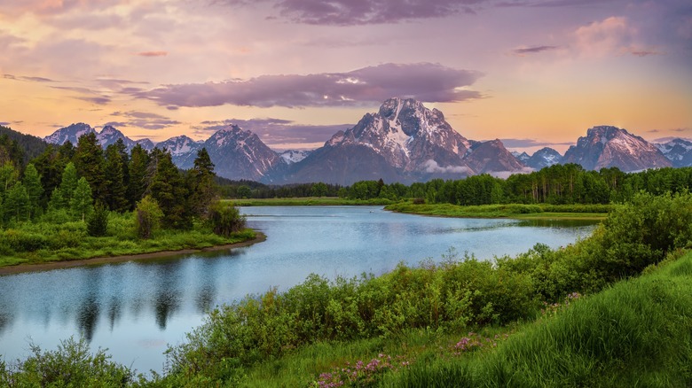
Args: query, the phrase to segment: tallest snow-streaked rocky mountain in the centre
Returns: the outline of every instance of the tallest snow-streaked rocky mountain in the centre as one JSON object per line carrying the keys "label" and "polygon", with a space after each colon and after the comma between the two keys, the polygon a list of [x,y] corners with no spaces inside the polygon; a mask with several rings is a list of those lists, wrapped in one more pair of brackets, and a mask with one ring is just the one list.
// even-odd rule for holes
{"label": "tallest snow-streaked rocky mountain in the centre", "polygon": [[442,112],[413,99],[390,98],[378,113],[367,113],[355,127],[337,132],[292,165],[285,180],[419,182],[523,168],[499,140],[472,145]]}

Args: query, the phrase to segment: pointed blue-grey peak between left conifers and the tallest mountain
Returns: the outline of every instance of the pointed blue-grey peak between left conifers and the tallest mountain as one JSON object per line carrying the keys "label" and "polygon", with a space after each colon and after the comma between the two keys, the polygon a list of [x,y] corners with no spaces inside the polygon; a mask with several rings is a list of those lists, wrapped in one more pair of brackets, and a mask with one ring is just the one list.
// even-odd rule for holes
{"label": "pointed blue-grey peak between left conifers and the tallest mountain", "polygon": [[228,179],[274,182],[288,167],[259,136],[236,125],[219,130],[202,146],[216,165],[216,174]]}

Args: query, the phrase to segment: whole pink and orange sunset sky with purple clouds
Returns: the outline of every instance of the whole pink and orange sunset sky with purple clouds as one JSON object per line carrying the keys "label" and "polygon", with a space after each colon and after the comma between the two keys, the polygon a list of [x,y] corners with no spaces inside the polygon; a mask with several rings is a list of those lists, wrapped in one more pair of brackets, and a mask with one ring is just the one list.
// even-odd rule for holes
{"label": "whole pink and orange sunset sky with purple clouds", "polygon": [[413,97],[515,151],[692,138],[689,0],[0,0],[0,53],[0,124],[42,137],[313,149]]}

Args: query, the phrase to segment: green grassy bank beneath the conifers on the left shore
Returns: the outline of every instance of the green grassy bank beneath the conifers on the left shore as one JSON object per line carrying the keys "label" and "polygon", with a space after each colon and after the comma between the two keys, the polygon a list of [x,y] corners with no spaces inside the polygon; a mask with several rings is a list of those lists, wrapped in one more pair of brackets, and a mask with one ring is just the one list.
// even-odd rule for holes
{"label": "green grassy bank beneath the conifers on the left shore", "polygon": [[225,238],[201,224],[195,224],[191,230],[163,229],[151,239],[135,235],[131,213],[110,213],[105,237],[89,237],[86,224],[80,221],[20,223],[0,230],[0,267],[202,249],[236,244],[256,236],[253,230],[246,229]]}

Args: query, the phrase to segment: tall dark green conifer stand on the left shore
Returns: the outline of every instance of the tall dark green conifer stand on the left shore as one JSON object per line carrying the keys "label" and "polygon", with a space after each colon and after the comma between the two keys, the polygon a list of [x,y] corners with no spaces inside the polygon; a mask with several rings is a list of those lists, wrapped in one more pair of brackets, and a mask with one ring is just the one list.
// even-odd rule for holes
{"label": "tall dark green conifer stand on the left shore", "polygon": [[140,237],[147,237],[146,228],[159,223],[191,229],[193,220],[208,219],[212,210],[224,212],[215,205],[216,174],[206,149],[198,151],[193,168],[181,171],[169,151],[137,145],[128,152],[122,139],[103,149],[88,134],[76,146],[48,144],[24,166],[20,145],[0,141],[0,227],[39,219],[98,226],[109,211],[133,211]]}

